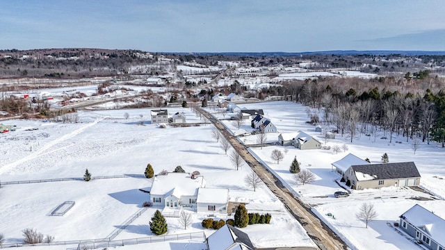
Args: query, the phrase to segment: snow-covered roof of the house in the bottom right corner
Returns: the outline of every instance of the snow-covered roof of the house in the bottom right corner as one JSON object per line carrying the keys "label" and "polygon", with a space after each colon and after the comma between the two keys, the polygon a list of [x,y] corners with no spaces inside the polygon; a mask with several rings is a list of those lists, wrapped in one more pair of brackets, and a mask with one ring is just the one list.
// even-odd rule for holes
{"label": "snow-covered roof of the house in the bottom right corner", "polygon": [[416,204],[403,213],[401,218],[430,235],[435,242],[445,246],[445,220],[441,217]]}

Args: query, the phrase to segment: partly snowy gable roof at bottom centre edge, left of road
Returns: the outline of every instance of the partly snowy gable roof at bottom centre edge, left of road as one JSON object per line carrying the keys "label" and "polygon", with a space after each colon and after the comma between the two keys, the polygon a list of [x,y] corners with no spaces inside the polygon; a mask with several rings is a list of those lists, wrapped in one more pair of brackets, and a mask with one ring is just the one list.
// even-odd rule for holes
{"label": "partly snowy gable roof at bottom centre edge, left of road", "polygon": [[207,238],[209,250],[253,250],[249,235],[243,231],[225,224]]}

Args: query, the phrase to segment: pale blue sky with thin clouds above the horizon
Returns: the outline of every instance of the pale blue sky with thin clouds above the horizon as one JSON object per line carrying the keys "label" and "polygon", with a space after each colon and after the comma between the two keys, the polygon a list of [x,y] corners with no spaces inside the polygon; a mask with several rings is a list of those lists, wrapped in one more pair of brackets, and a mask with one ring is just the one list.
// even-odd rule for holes
{"label": "pale blue sky with thin clouds above the horizon", "polygon": [[445,51],[443,0],[0,0],[0,49]]}

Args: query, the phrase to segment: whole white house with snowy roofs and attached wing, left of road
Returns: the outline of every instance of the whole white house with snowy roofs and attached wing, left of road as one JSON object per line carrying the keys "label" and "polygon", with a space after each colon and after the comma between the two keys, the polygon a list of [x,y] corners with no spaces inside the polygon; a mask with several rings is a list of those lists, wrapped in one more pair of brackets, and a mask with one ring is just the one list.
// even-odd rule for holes
{"label": "whole white house with snowy roofs and attached wing, left of road", "polygon": [[189,173],[158,174],[153,177],[150,201],[170,210],[189,207],[197,213],[227,213],[229,190],[205,188],[204,176]]}

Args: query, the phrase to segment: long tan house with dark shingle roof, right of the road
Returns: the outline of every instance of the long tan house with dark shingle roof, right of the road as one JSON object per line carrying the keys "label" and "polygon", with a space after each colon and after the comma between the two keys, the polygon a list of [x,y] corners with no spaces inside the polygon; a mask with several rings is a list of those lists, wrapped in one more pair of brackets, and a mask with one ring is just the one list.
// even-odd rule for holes
{"label": "long tan house with dark shingle roof, right of the road", "polygon": [[351,165],[343,174],[351,187],[410,187],[420,184],[420,174],[413,162]]}

